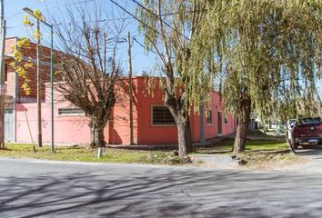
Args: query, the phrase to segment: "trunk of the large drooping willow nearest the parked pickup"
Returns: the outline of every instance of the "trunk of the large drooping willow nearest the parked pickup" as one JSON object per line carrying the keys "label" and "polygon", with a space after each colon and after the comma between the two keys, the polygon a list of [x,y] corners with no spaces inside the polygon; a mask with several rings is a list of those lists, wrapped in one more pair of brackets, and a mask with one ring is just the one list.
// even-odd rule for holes
{"label": "trunk of the large drooping willow nearest the parked pickup", "polygon": [[234,154],[243,153],[246,149],[247,131],[250,121],[251,99],[246,93],[239,99],[236,117],[238,119],[236,138],[234,143]]}

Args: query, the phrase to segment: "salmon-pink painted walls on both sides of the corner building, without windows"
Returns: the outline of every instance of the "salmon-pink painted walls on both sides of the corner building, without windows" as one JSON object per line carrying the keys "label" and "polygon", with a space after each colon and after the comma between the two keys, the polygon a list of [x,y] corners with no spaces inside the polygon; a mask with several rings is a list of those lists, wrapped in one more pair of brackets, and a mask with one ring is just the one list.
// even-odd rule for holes
{"label": "salmon-pink painted walls on both sides of the corner building, without windows", "polygon": [[[154,94],[148,94],[146,78],[136,77],[134,85],[134,141],[136,144],[176,144],[176,126],[153,126],[151,109],[152,105],[163,105],[163,94],[156,86]],[[113,120],[106,125],[105,137],[108,144],[129,144],[129,97],[128,84],[116,90],[118,101],[113,109]],[[61,99],[61,95],[55,93],[55,99]],[[211,107],[213,109],[213,124],[207,125],[205,118],[205,136],[213,138],[217,136],[217,111],[223,111],[223,103],[219,103],[219,95],[212,94]],[[58,115],[58,108],[70,107],[68,102],[55,102],[55,143],[59,144],[88,144],[90,139],[88,118],[86,116],[62,116]],[[26,124],[25,112],[29,120],[33,139],[36,142],[36,104],[16,105],[16,142],[31,142]],[[42,104],[43,112],[43,141],[51,141],[51,110],[50,110],[50,86],[46,84],[45,103]],[[191,131],[193,141],[199,140],[199,115],[191,115]],[[235,132],[235,123],[232,114],[228,115],[228,124],[224,124],[223,134]]]}

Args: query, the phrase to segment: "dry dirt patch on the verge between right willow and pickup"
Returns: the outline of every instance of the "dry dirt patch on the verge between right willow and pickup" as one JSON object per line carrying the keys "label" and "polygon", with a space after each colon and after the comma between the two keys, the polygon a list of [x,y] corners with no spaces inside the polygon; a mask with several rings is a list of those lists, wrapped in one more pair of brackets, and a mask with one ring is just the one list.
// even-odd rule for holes
{"label": "dry dirt patch on the verge between right willow and pickup", "polygon": [[243,164],[238,167],[257,170],[275,170],[291,164],[307,163],[307,159],[295,154],[238,154]]}

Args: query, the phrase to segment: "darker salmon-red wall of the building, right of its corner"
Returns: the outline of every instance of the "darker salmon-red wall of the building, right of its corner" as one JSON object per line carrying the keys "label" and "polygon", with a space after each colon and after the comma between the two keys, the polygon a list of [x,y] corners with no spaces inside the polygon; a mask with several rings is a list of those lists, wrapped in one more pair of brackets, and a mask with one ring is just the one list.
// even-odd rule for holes
{"label": "darker salmon-red wall of the building, right of its corner", "polygon": [[[176,126],[153,126],[151,110],[152,105],[164,105],[163,94],[156,84],[154,94],[148,94],[146,89],[146,78],[136,77],[138,83],[137,97],[137,139],[138,144],[177,144]],[[158,83],[158,82],[156,82]],[[228,114],[228,124],[224,121],[224,103],[219,101],[219,94],[212,92],[211,108],[213,108],[213,124],[206,124],[205,117],[205,138],[214,138],[218,136],[218,111],[222,114],[223,135],[235,133],[235,121],[232,114]],[[199,115],[192,114],[190,116],[190,128],[192,141],[199,140]]]}

